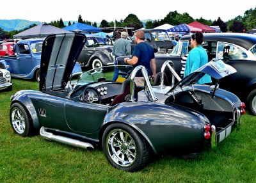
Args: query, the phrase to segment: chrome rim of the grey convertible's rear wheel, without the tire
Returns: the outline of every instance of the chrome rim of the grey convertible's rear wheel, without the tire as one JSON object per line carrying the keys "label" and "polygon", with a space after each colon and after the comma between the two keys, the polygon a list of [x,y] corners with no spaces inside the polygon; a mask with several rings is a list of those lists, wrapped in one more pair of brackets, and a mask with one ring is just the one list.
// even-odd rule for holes
{"label": "chrome rim of the grey convertible's rear wheel, without the tire", "polygon": [[136,145],[134,139],[121,129],[114,129],[106,141],[111,159],[119,166],[131,166],[136,160]]}

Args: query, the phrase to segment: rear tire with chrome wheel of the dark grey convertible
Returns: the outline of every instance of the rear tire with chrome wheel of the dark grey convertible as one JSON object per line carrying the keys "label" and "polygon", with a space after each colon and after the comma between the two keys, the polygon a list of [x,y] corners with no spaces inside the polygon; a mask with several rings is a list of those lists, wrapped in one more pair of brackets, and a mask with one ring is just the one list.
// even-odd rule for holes
{"label": "rear tire with chrome wheel of the dark grey convertible", "polygon": [[113,123],[106,128],[102,148],[109,163],[124,171],[144,168],[150,156],[145,139],[124,123]]}

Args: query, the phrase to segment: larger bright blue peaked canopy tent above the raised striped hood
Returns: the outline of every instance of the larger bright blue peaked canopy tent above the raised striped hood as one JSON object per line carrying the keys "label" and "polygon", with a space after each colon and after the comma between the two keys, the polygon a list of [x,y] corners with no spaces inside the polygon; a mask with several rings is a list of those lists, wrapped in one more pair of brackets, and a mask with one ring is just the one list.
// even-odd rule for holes
{"label": "larger bright blue peaked canopy tent above the raised striped hood", "polygon": [[95,28],[93,26],[82,24],[79,22],[77,22],[76,24],[67,26],[63,29],[67,31],[72,31],[72,32],[86,32],[86,33],[99,33],[101,31],[100,28]]}

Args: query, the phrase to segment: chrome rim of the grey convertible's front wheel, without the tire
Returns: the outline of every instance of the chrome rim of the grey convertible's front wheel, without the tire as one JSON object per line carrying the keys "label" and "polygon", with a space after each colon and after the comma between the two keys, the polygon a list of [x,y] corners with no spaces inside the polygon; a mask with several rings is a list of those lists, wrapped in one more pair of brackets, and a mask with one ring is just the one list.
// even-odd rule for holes
{"label": "chrome rim of the grey convertible's front wheel, without the tire", "polygon": [[22,134],[25,131],[25,117],[22,111],[18,107],[14,107],[12,110],[12,126],[13,129],[18,133]]}

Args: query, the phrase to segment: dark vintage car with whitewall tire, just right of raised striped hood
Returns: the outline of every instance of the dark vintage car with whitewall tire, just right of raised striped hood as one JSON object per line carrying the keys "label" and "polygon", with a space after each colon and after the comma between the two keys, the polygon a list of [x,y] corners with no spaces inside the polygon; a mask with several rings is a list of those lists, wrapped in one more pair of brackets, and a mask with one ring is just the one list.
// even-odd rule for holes
{"label": "dark vintage car with whitewall tire, just right of raised striped hood", "polygon": [[113,64],[111,55],[113,45],[108,45],[104,38],[96,35],[86,35],[86,43],[77,62],[81,66],[97,68]]}

